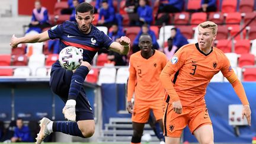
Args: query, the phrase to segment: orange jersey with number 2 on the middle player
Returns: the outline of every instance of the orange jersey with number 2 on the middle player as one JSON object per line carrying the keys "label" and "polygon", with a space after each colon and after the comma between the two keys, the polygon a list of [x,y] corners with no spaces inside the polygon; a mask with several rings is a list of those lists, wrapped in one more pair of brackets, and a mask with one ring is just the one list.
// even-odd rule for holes
{"label": "orange jersey with number 2 on the middle player", "polygon": [[167,62],[167,56],[158,50],[149,59],[143,58],[140,51],[130,56],[127,101],[132,99],[133,92],[135,101],[161,100],[165,89],[159,76]]}

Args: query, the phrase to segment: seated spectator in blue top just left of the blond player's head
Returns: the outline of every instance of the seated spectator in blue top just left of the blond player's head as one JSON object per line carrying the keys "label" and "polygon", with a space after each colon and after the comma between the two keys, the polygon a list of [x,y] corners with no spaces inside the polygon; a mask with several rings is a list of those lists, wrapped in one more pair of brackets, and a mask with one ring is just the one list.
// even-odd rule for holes
{"label": "seated spectator in blue top just left of the blond player's head", "polygon": [[[181,34],[179,28],[171,28],[172,51],[177,52],[180,47],[188,44],[187,39]],[[172,53],[173,54],[173,53]]]}

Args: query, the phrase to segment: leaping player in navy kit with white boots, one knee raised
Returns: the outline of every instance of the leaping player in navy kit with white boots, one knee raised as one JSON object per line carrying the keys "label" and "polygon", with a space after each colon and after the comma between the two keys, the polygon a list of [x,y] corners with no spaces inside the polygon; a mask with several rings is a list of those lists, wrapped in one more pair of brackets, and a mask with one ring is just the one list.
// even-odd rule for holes
{"label": "leaping player in navy kit with white boots, one knee raised", "polygon": [[67,46],[75,46],[82,50],[83,62],[75,71],[68,71],[59,62],[52,65],[50,88],[66,103],[63,114],[71,121],[51,121],[44,117],[40,120],[40,132],[37,144],[52,132],[62,132],[73,136],[91,137],[94,134],[95,123],[92,108],[89,104],[82,84],[85,76],[91,69],[92,58],[102,47],[108,48],[122,55],[127,55],[130,50],[130,39],[121,37],[119,42],[114,42],[98,30],[94,20],[94,8],[87,2],[76,7],[76,21],[65,21],[55,25],[48,31],[33,36],[17,38],[12,36],[10,45],[17,47],[20,43],[36,43],[49,39],[60,39],[59,51]]}

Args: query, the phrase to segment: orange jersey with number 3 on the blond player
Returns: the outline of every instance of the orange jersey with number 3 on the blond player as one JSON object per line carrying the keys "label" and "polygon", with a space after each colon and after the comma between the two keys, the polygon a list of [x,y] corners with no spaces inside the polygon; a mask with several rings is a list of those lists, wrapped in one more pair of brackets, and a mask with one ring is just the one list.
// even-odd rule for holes
{"label": "orange jersey with number 3 on the blond player", "polygon": [[[186,44],[175,53],[161,73],[161,80],[172,101],[180,100],[183,106],[205,104],[206,87],[212,77],[221,71],[228,77],[233,69],[225,54],[213,47],[207,55],[201,52],[199,44]],[[162,75],[163,78],[162,78]],[[172,85],[168,85],[172,81]]]}

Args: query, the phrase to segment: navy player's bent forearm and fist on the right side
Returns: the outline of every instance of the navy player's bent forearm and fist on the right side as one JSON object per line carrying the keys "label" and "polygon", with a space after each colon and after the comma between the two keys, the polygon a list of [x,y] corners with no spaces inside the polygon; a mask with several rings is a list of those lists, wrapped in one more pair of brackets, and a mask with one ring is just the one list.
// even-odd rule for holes
{"label": "navy player's bent forearm and fist on the right side", "polygon": [[121,55],[127,55],[130,50],[130,39],[126,36],[122,36],[119,39],[119,43],[114,41],[110,44],[110,50],[120,53]]}

